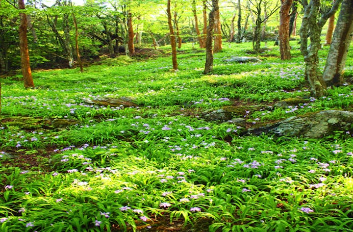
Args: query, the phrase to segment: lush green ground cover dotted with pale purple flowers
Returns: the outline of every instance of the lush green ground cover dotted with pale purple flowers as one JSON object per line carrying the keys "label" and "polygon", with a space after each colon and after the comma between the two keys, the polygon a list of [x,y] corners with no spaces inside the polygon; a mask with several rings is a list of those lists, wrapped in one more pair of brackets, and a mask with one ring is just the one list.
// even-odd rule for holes
{"label": "lush green ground cover dotted with pale purple flowers", "polygon": [[[350,110],[352,85],[310,98],[303,58],[225,62],[251,44],[224,44],[214,72],[185,44],[171,58],[120,56],[2,81],[0,231],[353,231],[353,131],[323,139],[242,135],[203,112],[231,108],[247,126],[324,109]],[[168,52],[168,48],[163,48]],[[321,65],[328,48],[320,51]],[[353,76],[349,53],[346,77]],[[87,103],[129,98],[137,106]],[[272,108],[301,97],[309,103]],[[55,125],[65,119],[66,124]]]}

